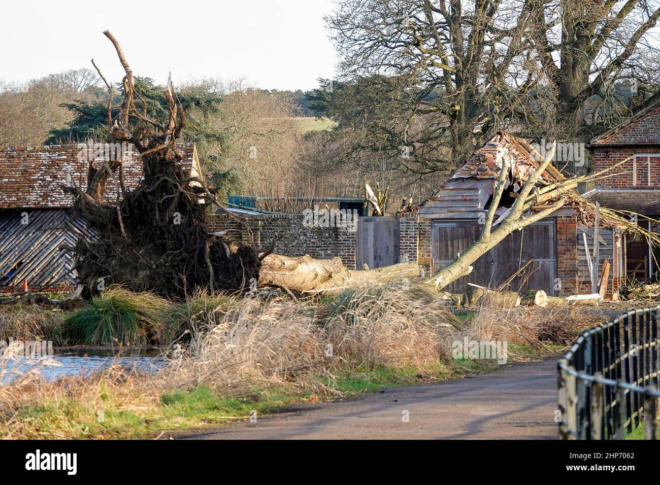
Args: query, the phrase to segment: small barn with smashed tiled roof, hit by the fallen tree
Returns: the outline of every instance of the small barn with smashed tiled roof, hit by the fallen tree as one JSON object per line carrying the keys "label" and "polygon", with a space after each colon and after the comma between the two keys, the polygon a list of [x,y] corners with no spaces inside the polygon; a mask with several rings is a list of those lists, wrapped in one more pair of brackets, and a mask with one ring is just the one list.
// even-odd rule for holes
{"label": "small barn with smashed tiled roof, hit by the fallen tree", "polygon": [[[541,157],[524,140],[508,133],[496,133],[419,209],[420,251],[418,263],[435,273],[451,263],[479,238],[485,214],[490,207],[495,181],[502,168],[510,170],[508,186],[497,216],[511,207],[521,186],[520,174],[538,168]],[[515,175],[515,176],[514,176]],[[541,183],[552,183],[564,176],[550,165]],[[581,210],[583,201],[569,191],[571,203],[550,216],[513,232],[473,265],[472,273],[451,283],[446,290],[463,292],[468,283],[498,288],[519,269],[509,283],[517,292],[545,290],[550,296],[591,292],[587,251],[593,250],[593,214]],[[481,222],[481,224],[480,224]],[[599,278],[608,271],[608,294],[617,297],[625,276],[622,247],[624,227],[599,224]],[[426,241],[424,241],[426,238]],[[424,248],[427,248],[424,250]],[[590,253],[589,253],[590,255]],[[605,262],[607,261],[607,264]]]}

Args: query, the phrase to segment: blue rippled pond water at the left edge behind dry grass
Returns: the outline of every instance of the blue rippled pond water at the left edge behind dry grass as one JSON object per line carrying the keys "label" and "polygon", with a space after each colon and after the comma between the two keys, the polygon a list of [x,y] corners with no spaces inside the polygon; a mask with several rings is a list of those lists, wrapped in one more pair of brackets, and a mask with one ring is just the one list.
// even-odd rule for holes
{"label": "blue rippled pond water at the left edge behind dry grass", "polygon": [[0,358],[0,383],[9,382],[25,372],[39,372],[48,380],[63,375],[89,375],[113,364],[141,372],[157,372],[165,365],[160,350],[151,349],[55,349],[47,358]]}

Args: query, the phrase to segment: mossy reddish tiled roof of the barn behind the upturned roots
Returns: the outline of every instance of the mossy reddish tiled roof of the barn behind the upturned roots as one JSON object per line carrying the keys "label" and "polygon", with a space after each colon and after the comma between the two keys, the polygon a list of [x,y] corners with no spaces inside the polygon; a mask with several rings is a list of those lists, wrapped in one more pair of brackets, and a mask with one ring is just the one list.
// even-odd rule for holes
{"label": "mossy reddish tiled roof of the barn behind the upturned roots", "polygon": [[[180,145],[182,164],[197,176],[199,164],[193,143]],[[88,162],[81,145],[19,146],[0,150],[0,209],[66,208],[73,195],[63,185],[73,183],[84,189]],[[128,189],[137,187],[143,175],[140,154],[132,145],[125,151],[124,181]],[[129,160],[130,157],[130,160]],[[106,201],[115,199],[112,180],[106,183]]]}

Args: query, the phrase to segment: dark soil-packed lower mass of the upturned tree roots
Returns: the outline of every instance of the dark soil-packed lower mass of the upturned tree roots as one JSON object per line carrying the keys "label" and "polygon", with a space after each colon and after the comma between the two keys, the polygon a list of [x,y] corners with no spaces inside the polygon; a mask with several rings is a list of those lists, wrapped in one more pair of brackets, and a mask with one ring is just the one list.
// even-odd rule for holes
{"label": "dark soil-packed lower mass of the upturned tree roots", "polygon": [[145,157],[143,180],[119,205],[121,222],[116,208],[79,199],[77,208],[98,236],[74,248],[79,280],[92,293],[123,282],[133,291],[182,295],[201,286],[246,288],[259,278],[257,251],[209,233],[203,195],[191,190],[170,154],[169,160]]}

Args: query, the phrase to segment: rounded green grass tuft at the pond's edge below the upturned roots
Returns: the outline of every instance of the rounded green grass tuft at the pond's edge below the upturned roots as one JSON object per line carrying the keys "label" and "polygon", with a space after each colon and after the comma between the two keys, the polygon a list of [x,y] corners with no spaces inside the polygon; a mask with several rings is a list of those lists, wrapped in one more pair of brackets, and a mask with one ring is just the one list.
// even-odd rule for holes
{"label": "rounded green grass tuft at the pond's edge below the upturned roots", "polygon": [[67,336],[88,345],[143,346],[162,338],[170,318],[168,300],[113,286],[65,321]]}

